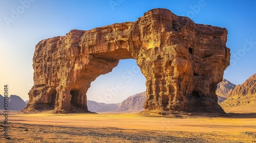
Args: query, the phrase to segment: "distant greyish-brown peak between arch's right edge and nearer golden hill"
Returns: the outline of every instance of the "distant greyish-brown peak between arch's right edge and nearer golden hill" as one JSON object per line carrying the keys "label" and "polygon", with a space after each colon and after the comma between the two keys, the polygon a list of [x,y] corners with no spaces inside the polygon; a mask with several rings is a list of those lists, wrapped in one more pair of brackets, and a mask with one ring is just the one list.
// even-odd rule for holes
{"label": "distant greyish-brown peak between arch's right edge and nearer golden hill", "polygon": [[231,93],[235,87],[235,84],[223,79],[223,81],[217,85],[217,90],[215,91],[218,96],[218,103],[225,101],[228,94]]}

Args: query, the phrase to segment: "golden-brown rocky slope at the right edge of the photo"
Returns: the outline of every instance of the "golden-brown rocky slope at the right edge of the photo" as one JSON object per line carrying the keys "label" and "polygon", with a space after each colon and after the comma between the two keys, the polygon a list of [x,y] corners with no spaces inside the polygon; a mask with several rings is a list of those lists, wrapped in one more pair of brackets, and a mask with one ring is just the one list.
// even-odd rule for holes
{"label": "golden-brown rocky slope at the right edge of the photo", "polygon": [[237,85],[220,105],[226,112],[256,112],[256,74]]}

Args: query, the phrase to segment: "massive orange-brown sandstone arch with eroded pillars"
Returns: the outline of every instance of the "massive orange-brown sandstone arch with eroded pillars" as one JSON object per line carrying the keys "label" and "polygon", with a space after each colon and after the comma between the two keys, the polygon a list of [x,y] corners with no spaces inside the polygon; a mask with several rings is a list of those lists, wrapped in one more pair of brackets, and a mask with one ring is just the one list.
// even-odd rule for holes
{"label": "massive orange-brown sandstone arch with eroded pillars", "polygon": [[36,45],[34,86],[25,111],[87,112],[92,81],[120,59],[137,60],[146,78],[146,111],[223,112],[215,90],[229,65],[227,30],[194,23],[167,9]]}

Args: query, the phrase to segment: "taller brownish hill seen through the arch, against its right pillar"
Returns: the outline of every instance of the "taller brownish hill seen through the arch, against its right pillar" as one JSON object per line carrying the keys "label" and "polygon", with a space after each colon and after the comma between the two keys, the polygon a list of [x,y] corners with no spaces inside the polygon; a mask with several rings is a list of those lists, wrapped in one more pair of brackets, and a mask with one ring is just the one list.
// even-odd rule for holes
{"label": "taller brownish hill seen through the arch, against its right pillar", "polygon": [[146,100],[146,92],[135,94],[124,100],[117,108],[116,111],[127,110],[144,110],[143,105]]}

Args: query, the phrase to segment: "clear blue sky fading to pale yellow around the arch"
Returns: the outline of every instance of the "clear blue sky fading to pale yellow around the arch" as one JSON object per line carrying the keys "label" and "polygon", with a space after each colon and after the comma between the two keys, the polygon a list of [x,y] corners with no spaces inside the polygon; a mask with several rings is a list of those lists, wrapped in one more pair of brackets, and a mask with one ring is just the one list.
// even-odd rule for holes
{"label": "clear blue sky fading to pale yellow around the arch", "polygon": [[[117,22],[136,21],[153,8],[166,8],[196,23],[225,27],[231,64],[224,78],[242,84],[256,73],[256,1],[65,1],[0,0],[0,93],[9,84],[10,94],[25,101],[33,85],[32,58],[42,39],[64,36],[72,29],[90,30]],[[102,101],[117,82],[122,89],[106,103],[118,103],[145,91],[145,78],[136,61],[121,60],[112,73],[98,77],[88,91],[88,100]],[[129,78],[130,76],[130,78]],[[113,90],[114,91],[114,90]]]}

